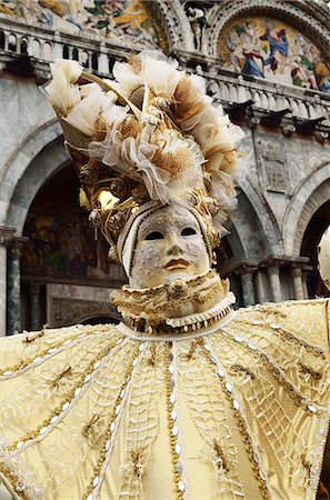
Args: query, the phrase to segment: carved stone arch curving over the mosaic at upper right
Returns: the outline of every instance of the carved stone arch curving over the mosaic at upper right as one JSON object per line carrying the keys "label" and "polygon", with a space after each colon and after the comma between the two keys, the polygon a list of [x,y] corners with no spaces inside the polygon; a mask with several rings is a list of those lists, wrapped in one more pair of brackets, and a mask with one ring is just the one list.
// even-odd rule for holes
{"label": "carved stone arch curving over the mosaic at upper right", "polygon": [[[302,32],[308,33],[308,38],[323,52],[329,53],[330,34],[324,29],[323,22],[329,24],[328,14],[323,13],[322,23],[312,14],[308,2],[299,2],[299,7],[288,0],[241,0],[240,2],[227,1],[221,3],[209,20],[209,28],[206,32],[208,40],[208,54],[218,57],[217,46],[219,36],[231,20],[249,14],[263,14],[279,18]],[[319,16],[318,16],[319,17]]]}

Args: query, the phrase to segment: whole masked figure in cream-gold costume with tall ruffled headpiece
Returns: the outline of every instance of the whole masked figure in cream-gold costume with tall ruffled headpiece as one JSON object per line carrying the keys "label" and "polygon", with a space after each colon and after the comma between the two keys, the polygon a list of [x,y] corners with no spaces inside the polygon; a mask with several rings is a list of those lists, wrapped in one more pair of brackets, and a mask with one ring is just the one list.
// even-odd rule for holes
{"label": "whole masked figure in cream-gold costume with tall ruffled headpiece", "polygon": [[19,499],[313,499],[328,302],[234,312],[211,269],[239,131],[149,54],[114,69],[110,94],[59,64],[48,92],[81,202],[130,284],[112,294],[119,326],[1,340],[4,483]]}

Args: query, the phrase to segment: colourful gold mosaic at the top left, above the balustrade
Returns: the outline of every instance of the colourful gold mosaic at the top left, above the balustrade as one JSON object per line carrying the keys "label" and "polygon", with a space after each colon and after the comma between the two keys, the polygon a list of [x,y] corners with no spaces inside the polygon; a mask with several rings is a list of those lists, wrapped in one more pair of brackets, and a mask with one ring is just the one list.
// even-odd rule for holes
{"label": "colourful gold mosaic at the top left, above the balustrade", "polygon": [[139,0],[0,0],[0,13],[60,31],[99,34],[114,43],[167,49],[160,27]]}

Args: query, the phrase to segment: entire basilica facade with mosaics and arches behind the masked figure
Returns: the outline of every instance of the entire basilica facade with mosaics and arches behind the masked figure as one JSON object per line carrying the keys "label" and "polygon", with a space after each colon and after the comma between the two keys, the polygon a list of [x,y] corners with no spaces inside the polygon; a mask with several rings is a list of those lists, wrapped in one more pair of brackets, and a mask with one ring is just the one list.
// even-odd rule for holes
{"label": "entire basilica facade with mosaics and arches behind the masked figure", "polygon": [[116,321],[109,291],[126,282],[42,93],[58,58],[111,79],[117,60],[158,50],[203,77],[246,133],[219,272],[239,307],[326,294],[329,32],[321,0],[0,1],[0,334]]}

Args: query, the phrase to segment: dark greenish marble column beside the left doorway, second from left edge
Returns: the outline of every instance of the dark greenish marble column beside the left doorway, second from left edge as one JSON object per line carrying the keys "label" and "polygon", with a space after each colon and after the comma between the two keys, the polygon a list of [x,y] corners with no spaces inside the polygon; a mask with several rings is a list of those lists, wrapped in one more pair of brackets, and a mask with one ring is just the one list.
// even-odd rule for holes
{"label": "dark greenish marble column beside the left doorway, second from left edge", "polygon": [[8,256],[7,334],[21,331],[21,253],[28,238],[12,238]]}

